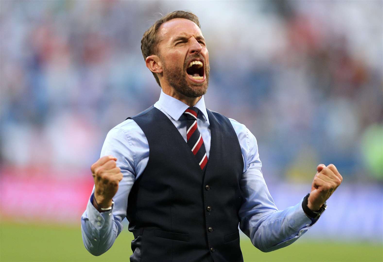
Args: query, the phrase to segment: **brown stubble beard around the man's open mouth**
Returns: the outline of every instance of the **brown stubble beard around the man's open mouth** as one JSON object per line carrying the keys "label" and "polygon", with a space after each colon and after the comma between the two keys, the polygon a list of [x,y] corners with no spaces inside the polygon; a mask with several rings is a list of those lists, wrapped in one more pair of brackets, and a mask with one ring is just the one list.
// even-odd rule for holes
{"label": "brown stubble beard around the man's open mouth", "polygon": [[169,68],[166,66],[164,60],[162,60],[162,65],[162,70],[164,71],[164,75],[167,75],[169,85],[178,93],[183,94],[188,98],[198,98],[206,94],[209,86],[210,67],[205,67],[205,81],[203,83],[190,84],[186,80],[186,65],[184,65],[184,68]]}

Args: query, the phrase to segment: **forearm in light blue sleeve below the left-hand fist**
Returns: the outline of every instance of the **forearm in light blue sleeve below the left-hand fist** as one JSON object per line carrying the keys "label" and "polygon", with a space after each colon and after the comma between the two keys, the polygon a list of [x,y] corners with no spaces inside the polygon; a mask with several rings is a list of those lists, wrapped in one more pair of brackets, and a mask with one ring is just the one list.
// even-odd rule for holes
{"label": "forearm in light blue sleeve below the left-hand fist", "polygon": [[123,228],[119,216],[112,212],[113,209],[100,213],[88,201],[81,217],[81,233],[84,246],[92,255],[108,251]]}

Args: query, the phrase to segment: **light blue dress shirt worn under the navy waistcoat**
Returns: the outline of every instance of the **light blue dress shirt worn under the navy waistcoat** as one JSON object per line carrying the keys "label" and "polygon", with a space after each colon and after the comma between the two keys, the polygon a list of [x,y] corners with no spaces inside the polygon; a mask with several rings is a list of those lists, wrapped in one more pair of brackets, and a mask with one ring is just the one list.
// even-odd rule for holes
{"label": "light blue dress shirt worn under the navy waistcoat", "polygon": [[[154,107],[169,117],[186,143],[187,121],[179,119],[189,106],[161,91],[159,101]],[[201,111],[197,125],[209,158],[210,124],[203,96],[195,107]],[[262,175],[257,140],[245,125],[234,119],[230,119],[230,122],[241,145],[244,161],[240,181],[244,203],[239,210],[241,218],[239,228],[261,251],[268,252],[288,246],[304,234],[315,221],[313,222],[303,212],[301,205],[303,198],[294,207],[278,211]],[[149,159],[147,139],[134,120],[125,120],[108,132],[101,150],[101,156],[105,155],[117,158],[117,166],[121,168],[123,179],[119,182],[118,191],[113,197],[115,204],[112,210],[99,213],[89,200],[87,209],[81,217],[82,239],[86,249],[93,255],[106,252],[121,233],[123,229],[121,221],[126,217],[129,192],[134,181],[141,176]]]}

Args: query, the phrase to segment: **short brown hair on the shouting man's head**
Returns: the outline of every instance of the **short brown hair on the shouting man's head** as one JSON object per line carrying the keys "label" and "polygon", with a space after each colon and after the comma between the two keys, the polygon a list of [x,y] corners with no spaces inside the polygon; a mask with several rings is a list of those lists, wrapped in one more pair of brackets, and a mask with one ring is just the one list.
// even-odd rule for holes
{"label": "short brown hair on the shouting man's head", "polygon": [[[190,21],[193,21],[196,23],[196,25],[201,28],[200,21],[198,20],[198,17],[191,11],[173,11],[171,13],[168,13],[165,16],[162,16],[159,20],[155,21],[155,23],[146,30],[144,35],[141,39],[141,51],[142,55],[144,56],[144,59],[146,60],[146,57],[149,55],[157,55],[157,31],[160,28],[161,24],[172,20],[174,18],[185,18]],[[153,72],[152,72],[153,73]],[[153,73],[155,81],[157,81],[158,85],[161,86],[160,80],[156,73]]]}

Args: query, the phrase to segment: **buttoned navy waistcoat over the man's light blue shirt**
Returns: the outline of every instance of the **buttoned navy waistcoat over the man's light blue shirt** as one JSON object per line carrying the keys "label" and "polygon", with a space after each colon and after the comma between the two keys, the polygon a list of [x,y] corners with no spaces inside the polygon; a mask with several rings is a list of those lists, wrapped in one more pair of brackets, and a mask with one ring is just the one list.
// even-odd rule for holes
{"label": "buttoned navy waistcoat over the man's light blue shirt", "polygon": [[211,147],[205,173],[163,112],[152,106],[131,117],[149,143],[149,161],[128,197],[131,262],[243,261],[241,147],[230,120],[207,112]]}

